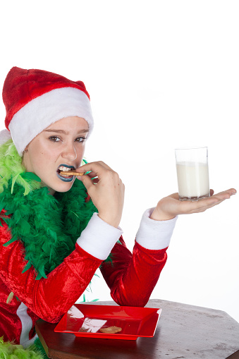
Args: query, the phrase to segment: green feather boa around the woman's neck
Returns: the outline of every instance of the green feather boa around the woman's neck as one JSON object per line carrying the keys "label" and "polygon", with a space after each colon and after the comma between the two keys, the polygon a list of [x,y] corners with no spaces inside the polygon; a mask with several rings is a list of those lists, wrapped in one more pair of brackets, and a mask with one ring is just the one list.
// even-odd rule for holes
{"label": "green feather boa around the woman's neck", "polygon": [[1,218],[11,230],[11,240],[5,245],[22,241],[27,260],[23,272],[33,266],[36,279],[47,278],[73,252],[97,209],[92,200],[85,200],[81,181],[75,180],[68,192],[52,196],[35,174],[25,172],[21,162],[11,140],[0,146],[0,212],[6,209]]}

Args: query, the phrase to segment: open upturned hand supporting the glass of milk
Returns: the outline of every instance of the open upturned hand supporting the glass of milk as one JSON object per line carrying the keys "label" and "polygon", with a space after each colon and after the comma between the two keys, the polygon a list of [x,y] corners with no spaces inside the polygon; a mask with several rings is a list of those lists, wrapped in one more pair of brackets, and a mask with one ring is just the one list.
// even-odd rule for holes
{"label": "open upturned hand supporting the glass of milk", "polygon": [[206,209],[219,205],[223,200],[230,198],[231,195],[235,195],[235,193],[235,188],[224,190],[216,195],[214,195],[214,190],[210,190],[211,197],[195,202],[180,201],[178,193],[173,193],[172,195],[168,195],[168,197],[162,198],[158,202],[157,207],[152,212],[150,218],[157,221],[166,221],[176,217],[178,214],[204,212]]}

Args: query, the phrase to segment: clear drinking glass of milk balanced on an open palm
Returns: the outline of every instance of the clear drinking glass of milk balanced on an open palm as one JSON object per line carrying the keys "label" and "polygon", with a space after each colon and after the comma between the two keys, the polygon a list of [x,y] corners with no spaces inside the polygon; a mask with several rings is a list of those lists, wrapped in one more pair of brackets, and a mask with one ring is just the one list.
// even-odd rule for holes
{"label": "clear drinking glass of milk balanced on an open palm", "polygon": [[181,201],[210,197],[207,147],[178,148],[176,168]]}

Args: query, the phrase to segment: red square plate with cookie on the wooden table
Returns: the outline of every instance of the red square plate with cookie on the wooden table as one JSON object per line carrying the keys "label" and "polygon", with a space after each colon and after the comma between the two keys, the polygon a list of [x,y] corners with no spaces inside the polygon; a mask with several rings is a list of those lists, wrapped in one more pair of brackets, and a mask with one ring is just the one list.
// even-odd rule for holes
{"label": "red square plate with cookie on the wooden table", "polygon": [[[138,336],[154,336],[160,314],[159,308],[75,304],[54,331],[87,338],[136,340]],[[113,326],[121,331],[116,334],[99,331]]]}

